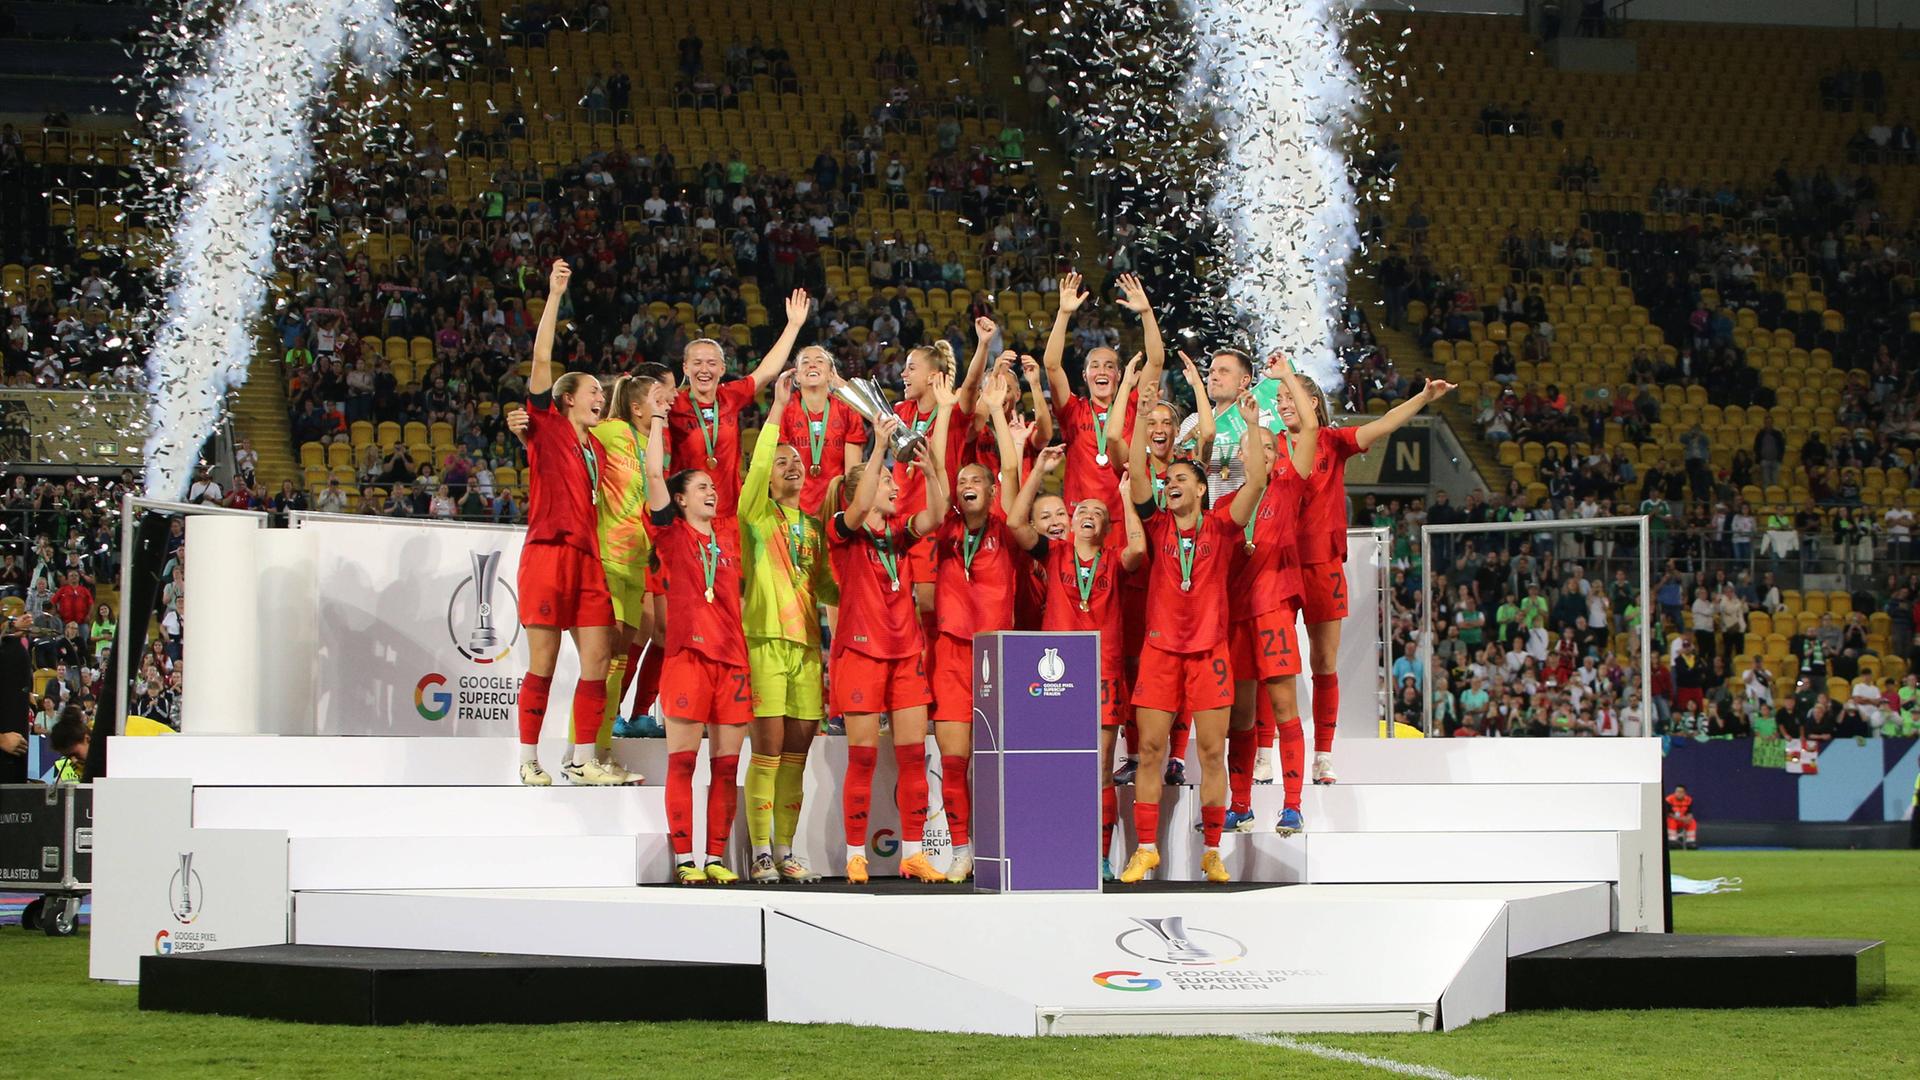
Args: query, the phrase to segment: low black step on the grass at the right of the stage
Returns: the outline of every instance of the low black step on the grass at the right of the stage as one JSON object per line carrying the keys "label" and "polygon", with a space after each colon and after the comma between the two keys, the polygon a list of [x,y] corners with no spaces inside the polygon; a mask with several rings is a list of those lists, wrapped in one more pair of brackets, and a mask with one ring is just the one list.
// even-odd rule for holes
{"label": "low black step on the grass at the right of the stage", "polygon": [[1507,961],[1507,1009],[1859,1005],[1887,988],[1884,942],[1596,934]]}

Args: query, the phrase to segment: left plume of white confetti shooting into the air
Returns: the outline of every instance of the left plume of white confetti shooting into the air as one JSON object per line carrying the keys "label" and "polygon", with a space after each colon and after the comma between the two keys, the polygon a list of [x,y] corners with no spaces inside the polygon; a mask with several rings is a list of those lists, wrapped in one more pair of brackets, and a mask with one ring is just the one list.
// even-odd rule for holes
{"label": "left plume of white confetti shooting into the air", "polygon": [[313,111],[336,67],[380,79],[403,52],[394,0],[240,0],[180,81],[179,221],[148,357],[150,496],[186,496],[227,392],[246,380],[275,219],[313,171]]}

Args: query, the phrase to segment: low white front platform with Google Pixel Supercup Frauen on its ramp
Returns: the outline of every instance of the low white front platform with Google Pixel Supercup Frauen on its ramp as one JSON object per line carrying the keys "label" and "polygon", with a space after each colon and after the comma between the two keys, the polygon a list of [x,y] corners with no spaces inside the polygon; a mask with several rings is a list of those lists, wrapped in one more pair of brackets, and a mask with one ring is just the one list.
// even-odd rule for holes
{"label": "low white front platform with Google Pixel Supercup Frauen on its ramp", "polygon": [[[785,1022],[1233,1034],[1461,1026],[1503,1009],[1507,955],[1599,932],[1605,907],[1603,886],[952,899],[301,892],[294,932],[296,942],[324,945],[764,963],[770,1019]],[[1169,915],[1185,917],[1188,938],[1212,959],[1154,959],[1164,945],[1135,917]],[[929,924],[950,934],[927,936]],[[954,938],[972,945],[954,949]]]}

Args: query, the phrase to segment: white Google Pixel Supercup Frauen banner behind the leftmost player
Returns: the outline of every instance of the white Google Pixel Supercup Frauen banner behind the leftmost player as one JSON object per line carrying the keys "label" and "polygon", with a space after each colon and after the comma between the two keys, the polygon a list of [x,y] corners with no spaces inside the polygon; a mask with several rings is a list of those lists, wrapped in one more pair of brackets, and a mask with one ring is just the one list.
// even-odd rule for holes
{"label": "white Google Pixel Supercup Frauen banner behind the leftmost player", "polygon": [[[516,734],[526,675],[524,530],[309,517],[315,734]],[[545,732],[561,738],[580,659],[561,646]]]}

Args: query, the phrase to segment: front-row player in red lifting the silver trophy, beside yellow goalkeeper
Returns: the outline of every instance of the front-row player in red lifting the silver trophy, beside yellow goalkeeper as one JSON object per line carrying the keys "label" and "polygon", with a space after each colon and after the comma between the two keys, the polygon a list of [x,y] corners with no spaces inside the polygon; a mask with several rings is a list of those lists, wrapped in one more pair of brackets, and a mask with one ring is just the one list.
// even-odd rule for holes
{"label": "front-row player in red lifting the silver trophy, beside yellow goalkeeper", "polygon": [[945,880],[922,849],[927,824],[927,686],[925,640],[912,582],[906,580],[908,550],[931,536],[947,515],[947,480],[939,446],[947,436],[954,394],[945,382],[937,392],[937,419],[929,442],[916,457],[925,480],[925,507],[899,509],[899,488],[881,461],[899,417],[885,417],[874,446],[828,490],[828,555],[839,580],[839,626],[831,646],[829,711],[847,723],[847,786],[841,821],[847,828],[847,880],[862,884],[866,872],[868,805],[874,798],[874,761],[879,719],[893,724],[893,759],[899,765],[895,803],[900,807],[900,876]]}

